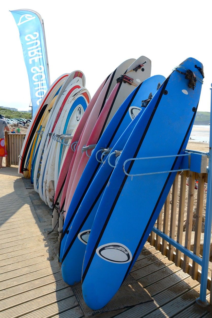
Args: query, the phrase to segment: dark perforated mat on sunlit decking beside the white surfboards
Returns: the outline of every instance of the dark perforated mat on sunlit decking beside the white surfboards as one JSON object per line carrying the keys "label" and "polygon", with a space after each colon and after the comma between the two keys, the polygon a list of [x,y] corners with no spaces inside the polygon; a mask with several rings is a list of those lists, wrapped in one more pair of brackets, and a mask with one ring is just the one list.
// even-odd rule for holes
{"label": "dark perforated mat on sunlit decking beside the white surfboards", "polygon": [[35,209],[39,222],[46,222],[45,213],[49,212],[52,215],[52,210],[48,205],[46,205],[41,199],[36,191],[29,193],[31,203]]}

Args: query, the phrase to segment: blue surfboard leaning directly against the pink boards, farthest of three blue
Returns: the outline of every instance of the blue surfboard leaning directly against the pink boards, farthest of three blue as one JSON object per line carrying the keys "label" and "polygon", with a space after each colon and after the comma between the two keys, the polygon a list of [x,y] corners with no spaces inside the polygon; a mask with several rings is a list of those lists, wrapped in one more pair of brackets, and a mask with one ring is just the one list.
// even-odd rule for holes
{"label": "blue surfboard leaning directly against the pink boards, farthest of three blue", "polygon": [[[102,161],[100,159],[104,149],[102,150],[102,152],[101,149],[112,148],[114,146],[124,130],[130,124],[130,122],[132,122],[135,115],[140,112],[140,109],[142,108],[142,112],[145,109],[145,106],[141,107],[142,100],[146,100],[149,97],[150,93],[154,94],[158,86],[160,86],[164,79],[165,77],[162,75],[155,75],[146,79],[137,88],[135,88],[117,110],[116,114],[113,116],[112,120],[108,124],[105,132],[100,137],[99,142],[93,150],[92,155],[85,167],[82,177],[79,180],[79,184],[77,186],[77,189],[75,190],[71,204],[67,211],[59,246],[58,256],[60,260],[63,256],[63,250],[68,233],[70,231],[72,220],[80,206],[80,203],[82,202],[83,197],[85,196],[86,191],[91,185],[93,178],[102,165]],[[96,156],[99,161],[97,161]],[[106,156],[107,153],[105,154],[104,160]],[[72,239],[70,240],[70,242],[71,241]]]}

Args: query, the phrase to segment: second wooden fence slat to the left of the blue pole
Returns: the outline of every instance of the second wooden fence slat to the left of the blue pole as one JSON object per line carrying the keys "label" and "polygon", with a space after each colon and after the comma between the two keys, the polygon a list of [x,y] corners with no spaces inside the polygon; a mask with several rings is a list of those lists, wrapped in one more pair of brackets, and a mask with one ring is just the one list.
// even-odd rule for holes
{"label": "second wooden fence slat to the left of the blue pole", "polygon": [[[195,172],[189,172],[188,182],[188,208],[186,218],[186,234],[185,234],[185,247],[190,250],[191,248],[191,232],[192,232],[192,221],[194,211],[194,191],[195,191]],[[189,257],[184,254],[183,270],[188,273],[189,269]]]}

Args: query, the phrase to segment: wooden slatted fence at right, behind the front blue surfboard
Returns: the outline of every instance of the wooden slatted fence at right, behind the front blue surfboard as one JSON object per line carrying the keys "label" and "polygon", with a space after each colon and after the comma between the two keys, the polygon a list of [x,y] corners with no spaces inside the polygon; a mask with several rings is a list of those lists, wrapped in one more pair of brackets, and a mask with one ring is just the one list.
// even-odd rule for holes
{"label": "wooden slatted fence at right, behind the front blue surfboard", "polygon": [[[207,173],[183,171],[181,174],[177,174],[155,223],[157,229],[193,251],[197,256],[201,255],[200,252],[203,248],[207,180]],[[189,273],[194,280],[201,281],[201,266],[195,261],[182,254],[153,231],[150,233],[148,241],[176,266],[181,267],[185,273]],[[212,252],[210,257],[212,260]],[[210,271],[209,269],[207,283],[209,290],[212,288]],[[212,297],[210,302],[212,303]]]}

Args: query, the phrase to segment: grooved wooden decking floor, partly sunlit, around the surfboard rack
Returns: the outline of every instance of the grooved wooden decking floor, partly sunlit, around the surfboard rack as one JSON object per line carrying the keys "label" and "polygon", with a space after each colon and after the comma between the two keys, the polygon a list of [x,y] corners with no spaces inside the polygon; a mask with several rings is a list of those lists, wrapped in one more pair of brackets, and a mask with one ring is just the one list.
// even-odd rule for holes
{"label": "grooved wooden decking floor, partly sunlit, around the surfboard rack", "polygon": [[[84,317],[62,280],[57,235],[47,235],[49,210],[33,202],[33,193],[25,189],[17,168],[0,169],[0,317]],[[210,306],[195,303],[199,282],[149,243],[131,275],[154,301],[96,317],[212,317]]]}

